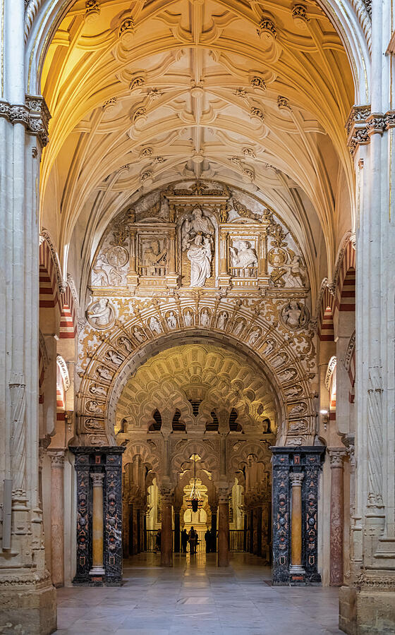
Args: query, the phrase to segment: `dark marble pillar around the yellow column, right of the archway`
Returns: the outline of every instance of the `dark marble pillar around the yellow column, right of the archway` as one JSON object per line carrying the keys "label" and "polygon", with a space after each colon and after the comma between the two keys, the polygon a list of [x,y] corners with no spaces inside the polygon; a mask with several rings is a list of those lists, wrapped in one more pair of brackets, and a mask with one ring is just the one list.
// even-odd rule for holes
{"label": "dark marble pillar around the yellow column, right of the archway", "polygon": [[[271,447],[272,530],[274,586],[312,586],[321,583],[317,569],[318,480],[325,447]],[[302,567],[291,569],[291,478],[303,473],[302,481]]]}

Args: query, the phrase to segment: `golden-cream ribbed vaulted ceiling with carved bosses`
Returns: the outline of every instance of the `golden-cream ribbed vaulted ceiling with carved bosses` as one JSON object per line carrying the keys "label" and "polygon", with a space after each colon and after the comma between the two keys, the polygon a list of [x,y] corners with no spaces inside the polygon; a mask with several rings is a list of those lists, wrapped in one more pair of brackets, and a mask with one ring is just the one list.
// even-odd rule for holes
{"label": "golden-cream ribbed vaulted ceiling with carved bosses", "polygon": [[71,242],[92,258],[103,218],[137,191],[193,176],[262,196],[330,277],[353,213],[353,80],[315,2],[78,0],[42,92],[42,224],[63,265]]}

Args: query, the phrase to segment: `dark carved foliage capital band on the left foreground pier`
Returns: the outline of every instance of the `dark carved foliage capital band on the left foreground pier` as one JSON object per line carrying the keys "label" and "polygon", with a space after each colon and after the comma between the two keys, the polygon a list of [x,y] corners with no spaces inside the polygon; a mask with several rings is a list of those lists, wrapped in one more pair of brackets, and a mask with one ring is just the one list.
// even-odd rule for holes
{"label": "dark carved foliage capital band on the left foreground pier", "polygon": [[41,95],[26,95],[25,104],[9,104],[0,101],[0,116],[11,123],[23,123],[28,133],[39,139],[42,147],[47,145],[51,114]]}

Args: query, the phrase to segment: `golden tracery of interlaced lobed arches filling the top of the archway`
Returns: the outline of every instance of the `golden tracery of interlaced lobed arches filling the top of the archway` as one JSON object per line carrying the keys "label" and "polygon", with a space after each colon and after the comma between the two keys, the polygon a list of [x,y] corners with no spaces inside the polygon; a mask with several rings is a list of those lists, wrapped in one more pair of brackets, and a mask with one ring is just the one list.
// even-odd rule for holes
{"label": "golden tracery of interlaced lobed arches filling the top of the archway", "polygon": [[[201,401],[196,417],[189,399]],[[209,344],[174,346],[145,362],[130,377],[117,406],[116,427],[126,419],[129,431],[145,433],[155,410],[162,414],[163,425],[166,412],[171,423],[178,409],[187,428],[190,423],[204,431],[213,410],[219,419],[226,412],[229,421],[232,408],[245,433],[262,433],[265,418],[270,419],[275,433],[272,389],[243,354]]]}

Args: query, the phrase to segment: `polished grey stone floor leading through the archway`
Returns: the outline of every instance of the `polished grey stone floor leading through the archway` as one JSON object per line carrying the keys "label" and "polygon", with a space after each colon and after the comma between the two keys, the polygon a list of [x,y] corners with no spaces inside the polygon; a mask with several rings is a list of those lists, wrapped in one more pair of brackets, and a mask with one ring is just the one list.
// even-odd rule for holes
{"label": "polished grey stone floor leading through the archway", "polygon": [[58,630],[62,635],[334,635],[336,588],[273,587],[270,569],[249,554],[234,554],[218,569],[214,554],[159,555],[125,563],[121,588],[61,588]]}

